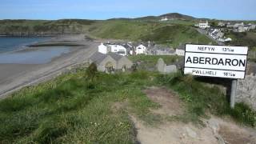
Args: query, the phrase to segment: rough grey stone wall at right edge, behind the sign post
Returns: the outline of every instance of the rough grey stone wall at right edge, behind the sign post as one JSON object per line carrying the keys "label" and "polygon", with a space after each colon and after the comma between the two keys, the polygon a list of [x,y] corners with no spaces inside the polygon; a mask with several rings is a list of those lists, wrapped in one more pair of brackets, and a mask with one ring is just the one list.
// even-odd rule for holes
{"label": "rough grey stone wall at right edge, behind the sign post", "polygon": [[238,80],[235,102],[244,102],[256,110],[256,76],[246,75],[243,80]]}

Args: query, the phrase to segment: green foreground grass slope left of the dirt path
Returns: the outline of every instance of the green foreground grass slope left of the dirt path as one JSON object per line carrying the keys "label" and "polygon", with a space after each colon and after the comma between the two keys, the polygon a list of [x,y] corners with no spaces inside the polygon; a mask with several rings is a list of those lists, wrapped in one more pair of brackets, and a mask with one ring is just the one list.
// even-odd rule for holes
{"label": "green foreground grass slope left of the dirt path", "polygon": [[134,143],[126,110],[111,106],[129,102],[132,113],[151,122],[148,109],[158,105],[142,89],[152,74],[98,74],[94,82],[84,74],[66,74],[2,100],[0,143]]}

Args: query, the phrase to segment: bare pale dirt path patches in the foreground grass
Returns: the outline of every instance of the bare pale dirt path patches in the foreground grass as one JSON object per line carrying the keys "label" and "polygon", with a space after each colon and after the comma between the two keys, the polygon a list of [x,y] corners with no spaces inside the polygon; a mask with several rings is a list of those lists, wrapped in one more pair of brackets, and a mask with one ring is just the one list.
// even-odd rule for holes
{"label": "bare pale dirt path patches in the foreground grass", "polygon": [[[153,110],[154,113],[170,116],[183,113],[184,106],[174,92],[159,87],[151,87],[144,92],[151,100],[162,106],[158,110]],[[203,120],[206,126],[200,127],[182,122],[163,122],[160,126],[151,127],[144,125],[133,115],[131,115],[131,119],[138,131],[138,141],[142,144],[256,143],[255,130],[237,126],[230,120],[223,120],[214,116]]]}

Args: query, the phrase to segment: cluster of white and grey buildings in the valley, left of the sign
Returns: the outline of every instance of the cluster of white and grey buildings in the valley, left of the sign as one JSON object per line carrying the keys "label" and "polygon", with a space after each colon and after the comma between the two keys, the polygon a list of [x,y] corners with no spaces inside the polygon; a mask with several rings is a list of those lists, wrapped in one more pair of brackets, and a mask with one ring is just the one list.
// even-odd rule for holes
{"label": "cluster of white and grey buildings in the valley, left of the sign", "polygon": [[[95,63],[99,71],[106,73],[118,70],[130,70],[136,63],[130,61],[126,56],[149,55],[149,56],[184,56],[185,45],[180,45],[175,50],[167,46],[156,45],[153,42],[106,42],[98,46],[98,51],[90,57],[90,63]],[[161,64],[159,64],[159,62]],[[158,71],[162,73],[176,72],[177,66],[165,66],[160,58],[158,61]],[[159,68],[159,66],[161,68]]]}

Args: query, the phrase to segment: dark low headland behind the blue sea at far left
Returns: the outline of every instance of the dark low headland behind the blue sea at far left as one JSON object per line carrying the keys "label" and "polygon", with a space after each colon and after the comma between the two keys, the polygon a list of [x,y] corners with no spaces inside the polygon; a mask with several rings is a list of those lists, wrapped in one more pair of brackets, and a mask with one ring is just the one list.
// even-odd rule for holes
{"label": "dark low headland behind the blue sea at far left", "polygon": [[83,34],[94,21],[81,19],[42,20],[1,20],[0,34]]}

